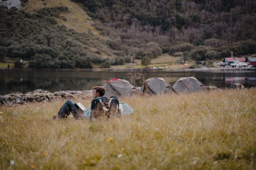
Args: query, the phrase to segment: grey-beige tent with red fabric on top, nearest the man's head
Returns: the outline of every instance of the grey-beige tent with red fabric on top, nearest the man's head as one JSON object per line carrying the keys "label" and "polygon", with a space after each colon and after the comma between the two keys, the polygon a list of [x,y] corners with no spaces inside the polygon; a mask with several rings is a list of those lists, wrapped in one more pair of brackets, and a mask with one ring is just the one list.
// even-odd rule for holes
{"label": "grey-beige tent with red fabric on top, nearest the man's head", "polygon": [[138,93],[138,90],[129,81],[117,78],[107,81],[103,87],[105,88],[104,96],[107,97],[130,96]]}

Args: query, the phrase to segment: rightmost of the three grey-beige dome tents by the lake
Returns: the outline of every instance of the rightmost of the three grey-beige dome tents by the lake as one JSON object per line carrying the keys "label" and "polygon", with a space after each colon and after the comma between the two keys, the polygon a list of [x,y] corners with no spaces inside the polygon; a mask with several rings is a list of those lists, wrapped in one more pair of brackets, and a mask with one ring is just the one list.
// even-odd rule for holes
{"label": "rightmost of the three grey-beige dome tents by the lake", "polygon": [[207,90],[205,85],[195,77],[182,77],[172,87],[177,93]]}

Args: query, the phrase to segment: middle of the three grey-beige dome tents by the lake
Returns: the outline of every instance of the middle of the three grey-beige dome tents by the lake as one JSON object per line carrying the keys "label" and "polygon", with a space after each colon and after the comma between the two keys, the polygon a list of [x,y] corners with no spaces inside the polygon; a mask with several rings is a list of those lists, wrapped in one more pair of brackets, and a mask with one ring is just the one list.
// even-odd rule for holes
{"label": "middle of the three grey-beige dome tents by the lake", "polygon": [[162,78],[149,78],[144,82],[144,86],[141,87],[142,92],[147,92],[150,95],[173,93],[172,87]]}

